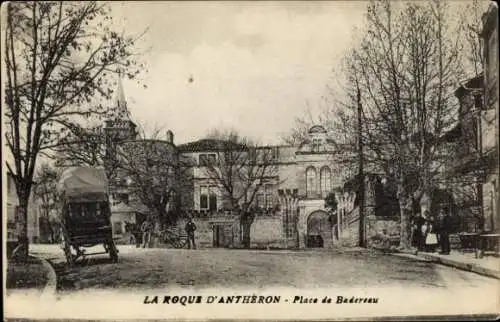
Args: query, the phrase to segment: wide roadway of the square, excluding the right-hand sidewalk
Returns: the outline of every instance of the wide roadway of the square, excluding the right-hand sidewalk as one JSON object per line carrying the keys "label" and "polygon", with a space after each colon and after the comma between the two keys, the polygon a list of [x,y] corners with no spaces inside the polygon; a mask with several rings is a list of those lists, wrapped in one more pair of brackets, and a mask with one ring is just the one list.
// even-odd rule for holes
{"label": "wide roadway of the square, excluding the right-hand sidewalk", "polygon": [[[58,294],[85,290],[167,287],[488,287],[488,277],[436,265],[419,254],[391,256],[366,249],[331,251],[142,249],[119,245],[119,261],[106,255],[65,267],[56,245],[32,245],[32,253],[51,262]],[[51,286],[53,288],[53,286]]]}

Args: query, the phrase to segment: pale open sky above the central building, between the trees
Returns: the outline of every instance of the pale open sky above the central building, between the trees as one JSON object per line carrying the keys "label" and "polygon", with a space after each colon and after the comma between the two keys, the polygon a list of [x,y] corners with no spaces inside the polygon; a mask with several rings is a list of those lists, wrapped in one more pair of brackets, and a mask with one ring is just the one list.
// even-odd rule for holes
{"label": "pale open sky above the central building, between the trees", "polygon": [[[280,143],[334,81],[366,2],[115,2],[147,72],[123,80],[132,118],[170,129],[177,144],[213,128]],[[190,81],[192,80],[192,81]],[[146,85],[147,88],[144,88]]]}

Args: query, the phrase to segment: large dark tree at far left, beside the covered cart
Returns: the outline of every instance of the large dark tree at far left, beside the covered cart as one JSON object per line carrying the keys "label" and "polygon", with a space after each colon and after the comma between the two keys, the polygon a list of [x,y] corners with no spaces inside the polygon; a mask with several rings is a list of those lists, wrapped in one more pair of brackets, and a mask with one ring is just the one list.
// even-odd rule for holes
{"label": "large dark tree at far left, beside the covered cart", "polygon": [[27,209],[37,159],[59,144],[68,128],[103,116],[100,98],[112,93],[109,75],[140,66],[131,51],[135,39],[110,29],[101,2],[10,2],[6,6],[7,162],[20,206],[18,236],[28,253]]}

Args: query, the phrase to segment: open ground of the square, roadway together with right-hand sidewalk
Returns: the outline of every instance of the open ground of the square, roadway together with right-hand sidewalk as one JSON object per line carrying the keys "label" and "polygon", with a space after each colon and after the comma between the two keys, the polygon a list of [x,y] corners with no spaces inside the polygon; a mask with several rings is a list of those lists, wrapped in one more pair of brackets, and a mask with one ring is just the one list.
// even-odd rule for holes
{"label": "open ground of the square, roadway together with right-hand sidewalk", "polygon": [[[228,249],[193,251],[141,249],[129,245],[118,247],[120,261],[117,264],[107,263],[107,258],[104,256],[90,258],[85,265],[68,270],[64,265],[62,251],[57,245],[31,245],[30,254],[42,261],[47,272],[48,282],[42,292],[42,299],[52,299],[56,296],[58,282],[59,291],[63,292],[94,287],[143,288],[167,284],[181,287],[214,285],[227,287],[238,283],[241,286],[257,283],[260,287],[286,284],[309,288],[317,286],[320,281],[321,285],[336,287],[391,283],[440,287],[454,284],[452,280],[457,280],[459,283],[465,281],[469,286],[475,285],[475,278],[471,279],[470,276],[457,272],[450,273],[446,268],[438,269],[436,276],[435,271],[429,269],[429,265],[435,264],[500,279],[498,257],[475,258],[473,253],[459,251],[452,251],[449,255],[418,252],[393,253],[391,255],[395,256],[387,256],[363,248],[330,251]],[[390,257],[406,258],[411,262],[390,260]],[[101,264],[106,265],[106,268],[102,269]],[[198,268],[196,271],[189,269],[189,266],[193,265]],[[363,273],[363,267],[366,265],[371,267],[369,274]],[[304,271],[306,267],[307,274]],[[329,268],[326,272],[325,267]],[[106,274],[102,274],[104,271]],[[172,276],[172,271],[176,271],[177,276]],[[187,272],[183,274],[183,271]],[[228,274],[229,272],[233,274]],[[453,276],[451,280],[450,276]],[[440,283],[440,277],[441,280],[446,280],[444,284]],[[484,282],[484,280],[478,281],[479,284]]]}

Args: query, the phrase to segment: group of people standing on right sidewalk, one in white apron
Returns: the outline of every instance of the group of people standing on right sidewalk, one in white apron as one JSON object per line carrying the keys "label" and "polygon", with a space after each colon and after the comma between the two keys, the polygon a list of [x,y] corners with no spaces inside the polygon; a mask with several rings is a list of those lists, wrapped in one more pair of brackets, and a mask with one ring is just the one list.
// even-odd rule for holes
{"label": "group of people standing on right sidewalk, one in white apron", "polygon": [[438,218],[428,211],[425,216],[418,213],[412,221],[412,246],[419,251],[435,252],[438,245],[440,254],[450,254],[451,217],[446,209],[441,209]]}

